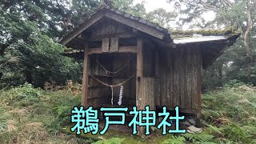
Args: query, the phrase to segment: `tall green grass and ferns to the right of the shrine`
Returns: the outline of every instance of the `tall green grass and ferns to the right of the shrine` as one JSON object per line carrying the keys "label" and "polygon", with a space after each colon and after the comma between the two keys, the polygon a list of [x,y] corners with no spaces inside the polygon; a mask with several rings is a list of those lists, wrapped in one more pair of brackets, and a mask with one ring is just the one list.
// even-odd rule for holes
{"label": "tall green grass and ferns to the right of the shrine", "polygon": [[230,82],[222,90],[203,94],[202,119],[218,142],[256,143],[255,104],[255,87]]}

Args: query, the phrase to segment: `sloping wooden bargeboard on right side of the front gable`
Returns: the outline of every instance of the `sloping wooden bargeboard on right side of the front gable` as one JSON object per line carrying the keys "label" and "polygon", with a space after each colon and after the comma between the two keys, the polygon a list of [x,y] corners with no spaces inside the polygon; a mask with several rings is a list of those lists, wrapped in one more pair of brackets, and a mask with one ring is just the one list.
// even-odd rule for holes
{"label": "sloping wooden bargeboard on right side of the front gable", "polygon": [[114,14],[114,13],[110,13],[110,12],[107,12],[105,15],[108,18],[114,19],[115,21],[121,22],[127,26],[131,26],[134,29],[140,30],[146,34],[150,34],[150,35],[154,36],[155,38],[163,39],[165,36],[165,34],[162,31],[157,30],[154,27],[147,26],[146,24],[134,21],[130,18],[123,17],[122,15]]}

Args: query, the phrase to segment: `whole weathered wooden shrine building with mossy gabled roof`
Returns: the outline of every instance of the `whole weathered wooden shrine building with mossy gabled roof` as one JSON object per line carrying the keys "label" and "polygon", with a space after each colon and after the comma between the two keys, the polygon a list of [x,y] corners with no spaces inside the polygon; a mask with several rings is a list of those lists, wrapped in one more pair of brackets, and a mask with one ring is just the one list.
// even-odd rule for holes
{"label": "whole weathered wooden shrine building with mossy gabled roof", "polygon": [[232,30],[213,33],[169,33],[143,18],[103,7],[61,43],[70,47],[66,54],[84,58],[83,106],[179,106],[200,118],[202,69],[239,36]]}

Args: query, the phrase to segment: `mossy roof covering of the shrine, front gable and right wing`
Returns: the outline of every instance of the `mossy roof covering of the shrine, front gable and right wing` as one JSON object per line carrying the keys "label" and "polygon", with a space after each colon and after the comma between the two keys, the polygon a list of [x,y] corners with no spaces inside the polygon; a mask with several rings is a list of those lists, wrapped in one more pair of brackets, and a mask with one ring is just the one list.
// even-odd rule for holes
{"label": "mossy roof covering of the shrine, front gable and right wing", "polygon": [[[135,17],[131,14],[127,14],[120,10],[115,10],[113,8],[110,8],[109,6],[101,6],[98,8],[98,10],[95,10],[93,14],[90,14],[90,17],[85,18],[84,21],[80,22],[78,26],[74,28],[74,30],[78,29],[84,22],[86,22],[88,19],[94,17],[95,14],[98,14],[101,11],[109,11],[113,12],[114,14],[122,15],[125,18],[130,18],[136,22],[140,22],[142,24],[145,24],[146,26],[150,26],[156,30],[161,31],[162,33],[166,34],[167,36],[170,36],[170,39],[174,40],[174,44],[185,44],[185,43],[191,43],[191,42],[208,42],[208,41],[216,41],[216,40],[223,40],[228,39],[230,37],[234,37],[239,33],[238,30],[235,30],[234,27],[228,27],[223,30],[174,30],[170,32],[170,30],[167,30],[166,28],[163,28],[162,26],[159,26],[157,23],[152,23],[144,18],[141,17]],[[72,33],[74,30],[71,30],[70,33]],[[70,34],[66,34],[60,42],[62,43],[65,38]],[[66,43],[65,43],[66,44]]]}

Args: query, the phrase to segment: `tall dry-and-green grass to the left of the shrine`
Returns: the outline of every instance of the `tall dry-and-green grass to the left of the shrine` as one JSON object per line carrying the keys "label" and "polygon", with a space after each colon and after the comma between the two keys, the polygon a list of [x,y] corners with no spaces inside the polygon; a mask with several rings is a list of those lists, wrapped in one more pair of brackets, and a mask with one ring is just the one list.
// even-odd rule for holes
{"label": "tall dry-and-green grass to the left of the shrine", "polygon": [[79,95],[67,90],[40,90],[30,84],[0,91],[0,143],[74,143],[60,130]]}

